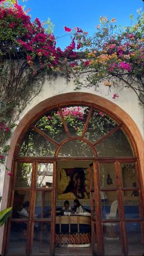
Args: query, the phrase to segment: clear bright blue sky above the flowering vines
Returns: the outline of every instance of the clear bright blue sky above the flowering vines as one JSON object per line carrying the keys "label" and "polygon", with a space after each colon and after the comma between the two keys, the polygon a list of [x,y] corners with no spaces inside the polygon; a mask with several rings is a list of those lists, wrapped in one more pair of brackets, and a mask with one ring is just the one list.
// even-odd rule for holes
{"label": "clear bright blue sky above the flowering vines", "polygon": [[[51,19],[54,27],[54,35],[65,35],[63,26],[81,27],[88,34],[95,33],[95,26],[99,24],[100,16],[107,16],[110,20],[116,18],[117,24],[128,26],[131,24],[129,15],[137,16],[137,9],[142,7],[142,0],[28,0],[19,3],[25,5],[25,9],[31,8],[29,14],[32,20],[40,21]],[[57,46],[64,49],[70,43],[70,37],[57,39]]]}

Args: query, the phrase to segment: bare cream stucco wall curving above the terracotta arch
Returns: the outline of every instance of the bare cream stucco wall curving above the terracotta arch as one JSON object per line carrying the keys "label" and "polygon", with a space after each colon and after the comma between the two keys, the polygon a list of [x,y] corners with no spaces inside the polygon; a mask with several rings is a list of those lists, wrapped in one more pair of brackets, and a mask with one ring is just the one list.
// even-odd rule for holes
{"label": "bare cream stucco wall curving above the terracotta arch", "polygon": [[[40,94],[37,97],[35,97],[31,101],[31,103],[27,105],[26,109],[24,109],[24,111],[21,113],[20,119],[18,120],[18,122],[20,122],[20,120],[24,117],[24,115],[26,115],[27,112],[29,112],[32,108],[34,108],[34,106],[36,106],[41,101],[56,95],[60,95],[62,93],[74,92],[74,87],[75,86],[74,86],[73,79],[71,79],[71,81],[67,83],[67,79],[62,78],[60,76],[57,78],[51,77],[51,79],[46,78],[45,84],[43,84],[43,88]],[[118,90],[120,90],[120,92],[118,92]],[[123,90],[121,90],[121,87],[119,84],[117,88],[112,88],[109,91],[109,88],[107,86],[104,86],[103,84],[101,84],[99,85],[99,88],[96,90],[94,87],[83,88],[81,89],[81,92],[93,93],[103,98],[107,98],[107,100],[110,100],[113,103],[117,104],[120,108],[122,108],[131,116],[131,118],[137,124],[140,130],[140,133],[143,136],[143,108],[142,106],[140,106],[137,95],[135,95],[132,89],[124,88]],[[116,99],[113,99],[112,98],[113,93],[118,93],[119,97]],[[3,190],[4,175],[5,175],[4,167],[1,167],[0,196],[2,195],[2,190]]]}

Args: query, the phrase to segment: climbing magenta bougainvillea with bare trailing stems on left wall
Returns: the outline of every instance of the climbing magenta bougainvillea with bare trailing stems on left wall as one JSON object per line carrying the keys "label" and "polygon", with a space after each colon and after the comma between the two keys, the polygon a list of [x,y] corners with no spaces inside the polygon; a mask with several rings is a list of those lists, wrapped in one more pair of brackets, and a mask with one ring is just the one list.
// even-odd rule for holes
{"label": "climbing magenta bougainvillea with bare trailing stems on left wall", "polygon": [[[16,1],[0,2],[0,163],[4,164],[13,123],[40,93],[45,75],[59,71],[60,48],[38,18],[33,22]],[[70,53],[67,49],[65,54]]]}

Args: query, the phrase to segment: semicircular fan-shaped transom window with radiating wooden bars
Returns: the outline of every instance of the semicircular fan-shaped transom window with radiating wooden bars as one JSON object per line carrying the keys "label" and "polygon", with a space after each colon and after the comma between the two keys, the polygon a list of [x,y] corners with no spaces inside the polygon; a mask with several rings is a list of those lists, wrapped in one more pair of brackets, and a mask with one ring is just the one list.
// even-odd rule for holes
{"label": "semicircular fan-shaped transom window with radiating wooden bars", "polygon": [[93,106],[63,106],[30,125],[18,156],[134,156],[122,124]]}

